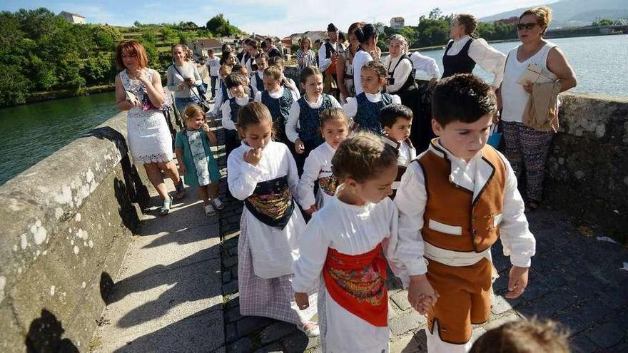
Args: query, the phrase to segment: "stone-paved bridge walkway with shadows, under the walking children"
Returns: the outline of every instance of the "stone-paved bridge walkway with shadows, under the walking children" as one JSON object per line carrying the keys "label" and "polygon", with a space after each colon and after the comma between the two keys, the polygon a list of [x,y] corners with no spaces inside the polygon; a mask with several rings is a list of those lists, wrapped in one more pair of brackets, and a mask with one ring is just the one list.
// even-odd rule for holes
{"label": "stone-paved bridge walkway with shadows, under the walking children", "polygon": [[[218,133],[222,140],[222,133]],[[226,172],[226,160],[219,165]],[[224,195],[226,183],[221,185]],[[203,215],[189,189],[168,217],[146,215],[125,257],[93,352],[320,352],[292,324],[242,317],[238,307],[238,225],[243,203]],[[551,317],[566,324],[574,352],[628,352],[628,250],[597,240],[594,230],[574,228],[567,217],[542,209],[528,216],[537,237],[530,285],[505,300],[509,262],[493,251],[500,279],[489,322],[474,337],[520,317]],[[397,280],[389,280],[391,352],[425,352],[425,317],[410,308]]]}

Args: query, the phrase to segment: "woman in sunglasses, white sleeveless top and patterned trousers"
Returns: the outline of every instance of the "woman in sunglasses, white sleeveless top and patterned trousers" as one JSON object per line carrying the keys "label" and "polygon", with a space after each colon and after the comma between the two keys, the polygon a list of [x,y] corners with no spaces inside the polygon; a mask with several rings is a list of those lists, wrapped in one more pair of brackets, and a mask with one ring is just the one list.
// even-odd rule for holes
{"label": "woman in sunglasses, white sleeveless top and patterned trousers", "polygon": [[[519,17],[517,33],[521,44],[508,53],[504,81],[499,91],[506,146],[504,154],[517,177],[525,170],[525,199],[528,210],[535,210],[542,200],[545,161],[554,131],[551,129],[537,131],[524,125],[523,116],[527,103],[531,94],[537,93],[534,92],[532,84],[522,85],[517,83],[517,80],[527,66],[534,63],[555,76],[560,92],[567,91],[577,84],[574,71],[564,53],[555,44],[543,39],[551,20],[552,12],[547,6],[528,9]],[[534,89],[541,87],[534,86]],[[548,107],[548,116],[551,108],[554,108],[554,114],[557,114],[557,106],[552,106]]]}

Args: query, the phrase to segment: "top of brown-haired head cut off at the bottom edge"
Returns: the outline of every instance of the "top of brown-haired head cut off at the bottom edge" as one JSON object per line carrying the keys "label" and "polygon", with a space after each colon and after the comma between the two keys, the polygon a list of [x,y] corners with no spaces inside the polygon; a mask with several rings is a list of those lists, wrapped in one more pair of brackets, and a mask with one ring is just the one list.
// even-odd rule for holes
{"label": "top of brown-haired head cut off at the bottom edge", "polygon": [[567,331],[557,322],[517,320],[488,330],[469,353],[569,353]]}

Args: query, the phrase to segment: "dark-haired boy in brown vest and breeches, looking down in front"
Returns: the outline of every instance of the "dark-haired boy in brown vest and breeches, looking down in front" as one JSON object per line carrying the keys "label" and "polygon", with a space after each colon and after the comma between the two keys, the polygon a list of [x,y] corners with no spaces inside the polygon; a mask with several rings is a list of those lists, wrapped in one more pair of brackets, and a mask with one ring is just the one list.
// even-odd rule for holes
{"label": "dark-haired boy in brown vest and breeches, looking down in front", "polygon": [[[397,190],[397,257],[408,300],[427,312],[427,350],[466,352],[471,324],[490,315],[490,247],[502,239],[512,268],[507,298],[527,285],[535,238],[510,163],[486,144],[495,93],[471,74],[437,84],[432,128],[438,138],[408,166]],[[408,281],[409,280],[409,281]]]}

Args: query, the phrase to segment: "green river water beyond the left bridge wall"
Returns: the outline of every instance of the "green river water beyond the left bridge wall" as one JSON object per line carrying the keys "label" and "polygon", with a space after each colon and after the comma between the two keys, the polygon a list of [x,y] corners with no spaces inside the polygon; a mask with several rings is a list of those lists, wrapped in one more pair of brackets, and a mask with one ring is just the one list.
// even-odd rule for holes
{"label": "green river water beyond the left bridge wall", "polygon": [[0,185],[116,115],[114,96],[0,108]]}

